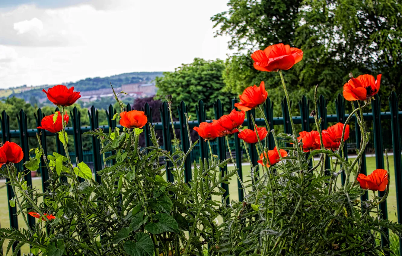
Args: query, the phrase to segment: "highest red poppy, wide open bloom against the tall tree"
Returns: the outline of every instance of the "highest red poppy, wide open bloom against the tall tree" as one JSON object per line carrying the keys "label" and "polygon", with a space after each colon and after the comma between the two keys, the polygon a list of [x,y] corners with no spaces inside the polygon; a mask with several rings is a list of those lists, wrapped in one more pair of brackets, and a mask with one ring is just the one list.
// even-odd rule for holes
{"label": "highest red poppy, wide open bloom against the tall tree", "polygon": [[270,45],[264,51],[252,53],[254,68],[260,71],[287,70],[303,59],[303,51],[289,45]]}

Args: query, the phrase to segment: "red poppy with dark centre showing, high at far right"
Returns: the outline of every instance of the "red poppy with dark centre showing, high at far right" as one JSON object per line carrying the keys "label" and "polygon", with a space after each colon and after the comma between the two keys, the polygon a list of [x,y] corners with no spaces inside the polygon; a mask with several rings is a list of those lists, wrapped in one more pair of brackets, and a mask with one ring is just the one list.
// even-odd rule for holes
{"label": "red poppy with dark centre showing, high at far right", "polygon": [[359,75],[351,78],[343,85],[343,97],[345,100],[369,100],[379,91],[381,74],[374,81],[372,75]]}

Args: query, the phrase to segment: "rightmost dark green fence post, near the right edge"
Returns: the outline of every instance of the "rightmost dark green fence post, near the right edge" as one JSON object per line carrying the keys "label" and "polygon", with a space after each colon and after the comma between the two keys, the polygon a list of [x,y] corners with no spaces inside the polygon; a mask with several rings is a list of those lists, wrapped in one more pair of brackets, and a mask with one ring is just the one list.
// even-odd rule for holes
{"label": "rightmost dark green fence post, near the right edge", "polygon": [[[398,103],[399,96],[392,91],[389,98],[391,112],[391,132],[392,132],[392,148],[394,151],[394,171],[396,183],[396,206],[398,209],[398,223],[402,223],[402,158],[401,158],[401,140]],[[402,252],[402,239],[399,238],[399,251]]]}

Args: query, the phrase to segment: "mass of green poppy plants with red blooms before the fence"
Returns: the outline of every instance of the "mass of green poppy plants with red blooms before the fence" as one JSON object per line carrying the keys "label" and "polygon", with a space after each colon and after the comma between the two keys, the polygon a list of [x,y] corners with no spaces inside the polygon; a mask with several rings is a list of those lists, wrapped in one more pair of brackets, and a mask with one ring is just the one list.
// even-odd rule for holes
{"label": "mass of green poppy plants with red blooms before the fence", "polygon": [[[277,47],[273,52],[279,56],[269,55],[255,66],[260,70],[279,71],[288,98],[281,69],[289,69],[300,60],[301,51],[291,49],[298,55],[283,57],[280,54],[286,53],[281,51],[285,46],[273,47]],[[254,59],[255,55],[252,57]],[[355,84],[352,86],[352,83]],[[29,172],[19,172],[15,168],[14,163],[22,159],[18,145],[6,142],[0,148],[0,164],[5,165],[0,174],[9,179],[16,195],[10,204],[18,206],[17,214],[23,216],[27,226],[30,221],[26,213],[39,219],[27,229],[0,229],[0,245],[9,239],[6,253],[14,243],[14,254],[23,244],[30,244],[34,255],[49,256],[382,255],[396,249],[395,243],[392,248],[380,243],[380,235],[385,235],[386,229],[399,237],[402,232],[400,224],[381,219],[379,210],[379,205],[388,195],[388,161],[388,171],[377,169],[369,176],[360,173],[361,157],[369,140],[362,109],[377,93],[379,79],[352,78],[345,84],[345,91],[349,94],[344,95],[347,100],[356,101],[358,108],[353,110],[345,124],[338,123],[321,130],[321,119],[316,116],[315,106],[312,116],[317,130],[300,132],[299,137],[295,136],[292,119],[294,135],[275,134],[269,129],[266,118],[268,129],[241,130],[244,111],[256,108],[263,115],[261,104],[267,98],[264,83],[248,87],[240,96],[236,107],[242,111],[233,110],[212,123],[201,123],[195,130],[208,144],[222,136],[228,142],[227,135],[240,132],[246,133],[245,140],[254,144],[257,152],[262,152],[258,161],[261,165],[251,166],[250,180],[242,183],[244,201],[230,204],[226,204],[223,198],[225,190],[221,184],[237,176],[238,169],[218,170],[229,161],[235,164],[232,155],[230,159],[217,160],[209,146],[211,158],[194,162],[192,178],[186,181],[185,161],[195,145],[191,139],[189,150],[183,152],[173,133],[175,151],[167,152],[160,148],[154,127],[149,126],[152,146],[139,147],[141,128],[146,125],[147,117],[137,110],[124,112],[123,103],[116,94],[123,129],[87,132],[96,136],[102,145],[100,154],[105,166],[96,174],[100,183],[95,181],[85,163],[79,163],[77,159],[74,167],[68,157],[63,115],[64,108],[73,104],[72,98],[78,95],[60,86],[49,89],[47,93],[62,108],[62,116],[55,113],[52,120],[54,126],[62,127],[59,138],[67,157],[57,153],[43,155],[38,134],[39,147],[33,149],[35,157],[24,164],[27,170],[34,171],[39,168],[39,159],[43,158],[49,172],[46,191],[41,193],[27,186],[24,175]],[[359,87],[359,93],[355,93]],[[317,89],[318,86],[315,98]],[[353,97],[359,97],[361,101]],[[63,103],[58,102],[60,99]],[[172,119],[172,96],[168,95],[166,99]],[[291,116],[290,103],[287,103]],[[358,120],[362,138],[357,158],[347,161],[343,157],[343,148],[349,137],[347,123],[352,116]],[[113,118],[117,118],[117,114]],[[254,122],[252,115],[251,118]],[[189,133],[187,114],[186,119]],[[51,120],[47,120],[47,125],[51,126]],[[273,150],[267,146],[270,132],[276,145]],[[279,148],[279,142],[288,146]],[[111,156],[105,158],[107,152],[111,152]],[[320,156],[317,163],[314,156]],[[166,159],[172,167],[161,165],[160,158]],[[113,164],[108,166],[107,161]],[[330,161],[329,165],[326,161]],[[164,179],[166,171],[173,175],[174,180]],[[345,175],[345,183],[339,187],[337,180],[340,175]],[[360,201],[359,197],[368,189],[386,190],[386,193],[382,198],[375,196],[372,200]],[[216,200],[215,196],[221,196],[222,201]],[[43,203],[38,203],[40,197],[43,197]],[[397,240],[394,236],[391,237],[393,241]]]}

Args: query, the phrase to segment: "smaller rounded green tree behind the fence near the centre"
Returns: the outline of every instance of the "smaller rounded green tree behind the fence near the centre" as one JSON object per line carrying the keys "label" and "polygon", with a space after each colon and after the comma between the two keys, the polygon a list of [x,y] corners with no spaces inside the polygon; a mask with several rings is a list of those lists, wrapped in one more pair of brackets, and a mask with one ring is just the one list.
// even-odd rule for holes
{"label": "smaller rounded green tree behind the fence near the centre", "polygon": [[175,106],[183,100],[193,117],[196,116],[195,107],[198,101],[202,100],[207,106],[207,118],[214,118],[213,104],[216,100],[221,100],[225,112],[232,108],[231,99],[234,94],[223,90],[224,69],[221,60],[206,61],[195,58],[193,63],[182,64],[174,72],[164,72],[164,77],[156,78],[157,97],[164,99],[166,95],[172,95]]}

